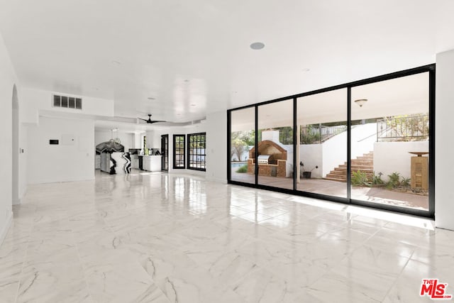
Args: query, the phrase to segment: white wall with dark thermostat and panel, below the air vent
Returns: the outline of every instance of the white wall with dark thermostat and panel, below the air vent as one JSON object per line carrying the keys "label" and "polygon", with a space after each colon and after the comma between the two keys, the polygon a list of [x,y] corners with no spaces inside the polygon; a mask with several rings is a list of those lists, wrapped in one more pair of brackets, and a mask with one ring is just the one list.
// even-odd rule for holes
{"label": "white wall with dark thermostat and panel, below the air vent", "polygon": [[[62,142],[67,135],[74,143]],[[38,126],[29,126],[28,183],[93,180],[93,163],[94,121],[40,117]]]}

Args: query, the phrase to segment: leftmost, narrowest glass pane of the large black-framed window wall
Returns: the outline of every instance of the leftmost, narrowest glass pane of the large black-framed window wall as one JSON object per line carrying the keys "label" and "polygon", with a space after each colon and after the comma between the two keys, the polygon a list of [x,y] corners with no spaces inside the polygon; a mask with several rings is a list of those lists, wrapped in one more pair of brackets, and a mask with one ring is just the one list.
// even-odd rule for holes
{"label": "leftmost, narrowest glass pane of the large black-framed window wall", "polygon": [[231,180],[255,183],[255,108],[231,111]]}

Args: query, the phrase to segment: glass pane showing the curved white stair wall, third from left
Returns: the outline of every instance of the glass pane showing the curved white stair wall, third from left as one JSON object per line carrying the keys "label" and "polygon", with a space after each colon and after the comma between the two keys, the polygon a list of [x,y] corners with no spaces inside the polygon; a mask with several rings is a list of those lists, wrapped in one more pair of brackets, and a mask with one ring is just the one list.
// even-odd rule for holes
{"label": "glass pane showing the curved white stair wall, third from left", "polygon": [[297,99],[297,190],[347,197],[347,89]]}

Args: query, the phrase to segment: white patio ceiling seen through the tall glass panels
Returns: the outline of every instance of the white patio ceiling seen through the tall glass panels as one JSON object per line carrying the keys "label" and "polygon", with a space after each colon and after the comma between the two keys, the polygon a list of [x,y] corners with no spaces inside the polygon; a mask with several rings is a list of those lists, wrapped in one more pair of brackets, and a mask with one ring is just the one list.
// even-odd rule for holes
{"label": "white patio ceiling seen through the tall glass panels", "polygon": [[[367,99],[358,106],[352,102],[352,120],[428,113],[428,72],[389,79],[352,88],[352,100]],[[297,124],[347,121],[347,89],[311,94],[297,99]],[[232,111],[232,131],[254,129],[253,108]],[[258,107],[258,128],[293,125],[293,100]]]}

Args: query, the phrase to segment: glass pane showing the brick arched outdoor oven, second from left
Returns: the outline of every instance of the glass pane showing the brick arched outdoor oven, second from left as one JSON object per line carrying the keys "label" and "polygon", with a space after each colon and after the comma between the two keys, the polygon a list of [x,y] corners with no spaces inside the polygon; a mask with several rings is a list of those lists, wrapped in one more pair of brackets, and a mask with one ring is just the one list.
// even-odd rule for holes
{"label": "glass pane showing the brick arched outdoor oven, second from left", "polygon": [[259,106],[258,132],[258,184],[293,189],[293,99]]}

